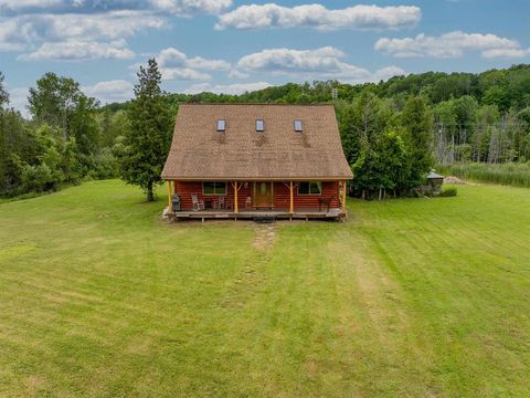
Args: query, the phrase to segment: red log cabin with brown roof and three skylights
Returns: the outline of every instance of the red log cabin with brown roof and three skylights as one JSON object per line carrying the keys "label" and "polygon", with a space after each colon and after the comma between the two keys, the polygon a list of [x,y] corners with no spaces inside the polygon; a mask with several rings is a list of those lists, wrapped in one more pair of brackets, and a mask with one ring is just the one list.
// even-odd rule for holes
{"label": "red log cabin with brown roof and three skylights", "polygon": [[182,104],[162,170],[176,218],[343,218],[332,105]]}

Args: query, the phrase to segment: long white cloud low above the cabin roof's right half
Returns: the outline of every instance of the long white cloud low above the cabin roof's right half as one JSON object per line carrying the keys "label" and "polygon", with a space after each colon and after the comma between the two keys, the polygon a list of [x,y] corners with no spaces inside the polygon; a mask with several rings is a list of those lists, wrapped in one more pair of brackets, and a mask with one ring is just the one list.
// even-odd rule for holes
{"label": "long white cloud low above the cabin roof's right half", "polygon": [[248,72],[268,72],[301,76],[308,80],[338,78],[352,83],[371,82],[404,74],[396,66],[369,72],[343,62],[344,53],[331,46],[316,50],[269,49],[243,56],[237,67]]}

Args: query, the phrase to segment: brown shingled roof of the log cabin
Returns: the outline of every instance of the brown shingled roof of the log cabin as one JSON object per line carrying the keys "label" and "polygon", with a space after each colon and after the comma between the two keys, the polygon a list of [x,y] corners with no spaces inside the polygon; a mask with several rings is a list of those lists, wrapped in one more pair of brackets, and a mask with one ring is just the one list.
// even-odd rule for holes
{"label": "brown shingled roof of the log cabin", "polygon": [[[218,119],[226,121],[224,133]],[[265,132],[256,133],[256,119]],[[162,170],[163,179],[352,177],[332,105],[182,104]]]}

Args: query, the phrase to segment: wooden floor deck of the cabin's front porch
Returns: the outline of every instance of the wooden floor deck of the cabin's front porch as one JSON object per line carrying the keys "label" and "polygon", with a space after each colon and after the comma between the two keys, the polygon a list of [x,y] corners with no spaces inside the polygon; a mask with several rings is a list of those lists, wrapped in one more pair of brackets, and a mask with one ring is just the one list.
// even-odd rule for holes
{"label": "wooden floor deck of the cabin's front porch", "polygon": [[294,213],[289,213],[288,209],[241,209],[235,213],[233,210],[223,209],[205,209],[198,211],[174,211],[168,214],[174,219],[234,219],[245,220],[254,218],[275,218],[277,220],[314,220],[314,219],[342,219],[344,212],[339,208],[320,210],[318,208],[296,209]]}

